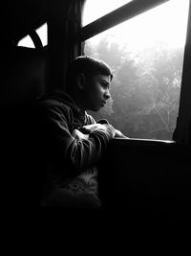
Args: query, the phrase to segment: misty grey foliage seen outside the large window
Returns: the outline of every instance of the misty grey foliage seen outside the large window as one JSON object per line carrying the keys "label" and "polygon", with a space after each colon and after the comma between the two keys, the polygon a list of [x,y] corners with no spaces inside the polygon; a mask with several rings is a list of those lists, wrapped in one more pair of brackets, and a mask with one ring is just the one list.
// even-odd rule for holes
{"label": "misty grey foliage seen outside the large window", "polygon": [[128,137],[171,140],[179,110],[183,49],[159,43],[128,51],[104,37],[86,42],[86,55],[105,60],[113,69],[112,100],[97,113]]}

